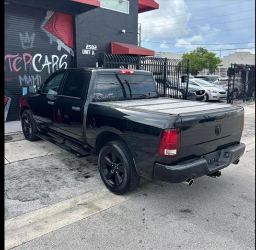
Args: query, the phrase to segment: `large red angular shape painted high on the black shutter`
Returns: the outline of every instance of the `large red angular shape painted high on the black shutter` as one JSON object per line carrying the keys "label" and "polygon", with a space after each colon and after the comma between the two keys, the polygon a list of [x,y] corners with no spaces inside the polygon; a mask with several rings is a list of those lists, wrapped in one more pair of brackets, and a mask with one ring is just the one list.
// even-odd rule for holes
{"label": "large red angular shape painted high on the black shutter", "polygon": [[45,24],[44,29],[51,32],[67,46],[74,48],[72,35],[73,20],[71,15],[55,12],[50,20]]}

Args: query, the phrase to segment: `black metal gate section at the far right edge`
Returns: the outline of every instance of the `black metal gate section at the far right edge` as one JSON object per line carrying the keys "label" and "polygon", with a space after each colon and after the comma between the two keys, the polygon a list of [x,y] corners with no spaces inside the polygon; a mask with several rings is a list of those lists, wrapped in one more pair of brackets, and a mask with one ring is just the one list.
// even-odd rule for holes
{"label": "black metal gate section at the far right edge", "polygon": [[227,104],[255,98],[255,65],[231,64],[228,68]]}

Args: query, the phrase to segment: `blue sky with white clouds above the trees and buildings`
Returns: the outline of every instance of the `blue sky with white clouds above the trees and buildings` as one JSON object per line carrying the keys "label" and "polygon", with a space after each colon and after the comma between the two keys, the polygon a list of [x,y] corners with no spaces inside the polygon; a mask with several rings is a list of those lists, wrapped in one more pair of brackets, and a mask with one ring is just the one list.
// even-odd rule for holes
{"label": "blue sky with white clouds above the trees and buildings", "polygon": [[221,48],[221,57],[236,51],[255,54],[255,48],[250,49],[255,47],[254,0],[155,0],[155,2],[159,4],[159,9],[138,15],[142,29],[142,47],[156,52],[180,54],[203,46],[209,51],[217,49],[218,51],[214,51],[217,56]]}

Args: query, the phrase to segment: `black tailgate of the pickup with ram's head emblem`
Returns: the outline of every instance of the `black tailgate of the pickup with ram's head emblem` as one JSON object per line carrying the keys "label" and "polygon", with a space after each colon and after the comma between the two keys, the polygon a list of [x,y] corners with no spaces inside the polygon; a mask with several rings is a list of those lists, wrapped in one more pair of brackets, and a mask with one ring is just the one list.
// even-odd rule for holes
{"label": "black tailgate of the pickup with ram's head emblem", "polygon": [[239,143],[243,108],[181,115],[180,158],[193,158]]}

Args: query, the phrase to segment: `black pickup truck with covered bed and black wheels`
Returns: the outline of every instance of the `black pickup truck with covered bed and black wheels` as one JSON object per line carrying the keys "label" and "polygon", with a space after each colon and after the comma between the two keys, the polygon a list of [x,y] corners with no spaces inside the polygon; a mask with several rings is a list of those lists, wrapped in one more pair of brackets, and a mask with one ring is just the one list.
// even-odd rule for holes
{"label": "black pickup truck with covered bed and black wheels", "polygon": [[245,152],[242,107],[160,98],[143,70],[57,70],[39,89],[28,86],[19,111],[27,140],[98,155],[102,181],[115,194],[141,177],[188,185],[218,177]]}

